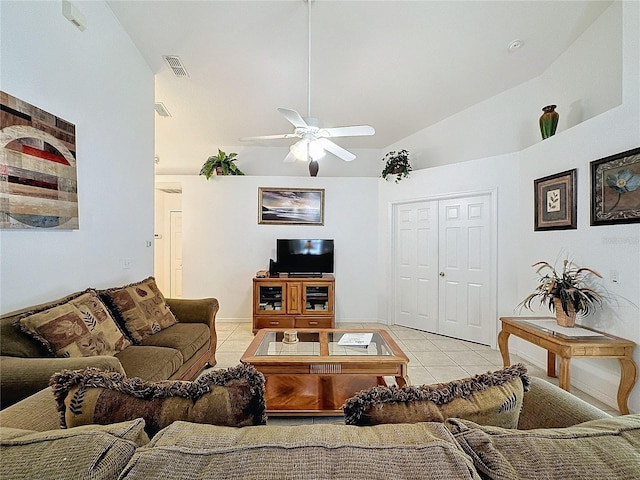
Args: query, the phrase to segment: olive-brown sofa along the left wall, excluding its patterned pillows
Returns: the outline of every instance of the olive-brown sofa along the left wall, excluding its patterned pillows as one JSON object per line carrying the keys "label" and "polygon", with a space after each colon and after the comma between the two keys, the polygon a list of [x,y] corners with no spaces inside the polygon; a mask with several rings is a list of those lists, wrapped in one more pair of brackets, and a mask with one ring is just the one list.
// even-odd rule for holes
{"label": "olive-brown sofa along the left wall, excluding its patterned pillows", "polygon": [[178,323],[130,345],[114,356],[52,357],[33,338],[19,331],[14,320],[25,312],[57,305],[71,294],[47,304],[31,306],[0,317],[0,401],[4,409],[38,391],[64,369],[96,367],[147,381],[194,378],[207,364],[215,365],[215,316],[218,301],[165,299]]}

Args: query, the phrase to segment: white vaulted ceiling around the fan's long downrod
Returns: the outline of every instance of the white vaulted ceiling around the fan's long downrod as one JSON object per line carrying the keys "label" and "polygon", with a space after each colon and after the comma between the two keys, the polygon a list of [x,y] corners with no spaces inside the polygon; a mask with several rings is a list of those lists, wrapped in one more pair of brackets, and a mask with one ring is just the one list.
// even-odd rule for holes
{"label": "white vaulted ceiling around the fan's long downrod", "polygon": [[[215,152],[242,136],[291,132],[277,107],[307,116],[305,0],[108,4],[171,114],[156,120],[158,154],[170,144]],[[325,126],[375,128],[339,139],[345,148],[383,148],[536,77],[610,4],[314,0],[311,114]],[[516,39],[522,47],[510,51]],[[163,55],[180,57],[189,76],[174,76]],[[163,158],[175,172],[184,161]]]}

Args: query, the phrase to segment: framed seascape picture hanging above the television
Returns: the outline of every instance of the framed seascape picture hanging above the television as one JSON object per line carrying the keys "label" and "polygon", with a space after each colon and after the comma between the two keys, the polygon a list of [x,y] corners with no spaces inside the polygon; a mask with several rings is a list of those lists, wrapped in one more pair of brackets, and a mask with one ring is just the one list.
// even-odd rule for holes
{"label": "framed seascape picture hanging above the television", "polygon": [[258,223],[324,225],[324,189],[259,187]]}

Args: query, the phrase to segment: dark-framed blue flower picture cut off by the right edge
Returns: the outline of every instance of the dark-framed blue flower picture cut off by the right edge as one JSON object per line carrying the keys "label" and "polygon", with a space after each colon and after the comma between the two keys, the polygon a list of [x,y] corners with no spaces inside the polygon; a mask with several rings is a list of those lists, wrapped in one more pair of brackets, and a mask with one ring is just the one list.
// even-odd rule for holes
{"label": "dark-framed blue flower picture cut off by the right edge", "polygon": [[591,225],[640,222],[640,148],[591,162]]}

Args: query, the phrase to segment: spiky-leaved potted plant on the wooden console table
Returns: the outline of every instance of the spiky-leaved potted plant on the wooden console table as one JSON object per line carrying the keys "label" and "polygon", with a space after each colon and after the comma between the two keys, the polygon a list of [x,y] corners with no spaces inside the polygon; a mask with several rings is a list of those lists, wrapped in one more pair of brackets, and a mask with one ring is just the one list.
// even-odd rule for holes
{"label": "spiky-leaved potted plant on the wooden console table", "polygon": [[547,262],[531,266],[538,267],[538,286],[518,305],[520,308],[532,310],[531,302],[539,299],[540,305],[547,305],[549,310],[556,312],[558,325],[573,327],[576,314],[588,315],[602,306],[603,296],[588,285],[591,275],[602,278],[598,272],[578,267],[568,259],[563,261],[561,271]]}

